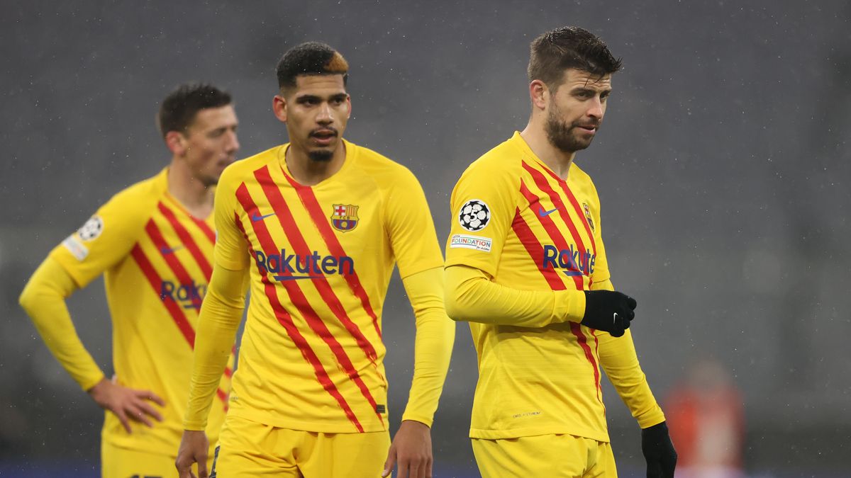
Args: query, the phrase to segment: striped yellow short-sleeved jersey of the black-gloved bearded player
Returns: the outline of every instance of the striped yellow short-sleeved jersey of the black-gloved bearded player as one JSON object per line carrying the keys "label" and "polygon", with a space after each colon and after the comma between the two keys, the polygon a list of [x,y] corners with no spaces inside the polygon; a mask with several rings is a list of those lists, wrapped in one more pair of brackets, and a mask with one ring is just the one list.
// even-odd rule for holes
{"label": "striped yellow short-sleeved jersey of the black-gloved bearded player", "polygon": [[[462,174],[452,193],[446,265],[523,290],[587,290],[609,278],[600,203],[574,163],[564,181],[519,133]],[[479,361],[470,435],[570,434],[608,441],[596,330],[471,323]]]}

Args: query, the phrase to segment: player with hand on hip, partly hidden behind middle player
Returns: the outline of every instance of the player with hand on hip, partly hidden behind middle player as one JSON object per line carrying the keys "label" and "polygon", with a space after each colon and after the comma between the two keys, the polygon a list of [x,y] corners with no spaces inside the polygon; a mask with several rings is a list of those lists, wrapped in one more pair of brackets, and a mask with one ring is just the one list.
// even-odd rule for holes
{"label": "player with hand on hip, partly hidden behind middle player", "polygon": [[[168,167],[106,202],[54,248],[20,295],[50,351],[106,410],[107,478],[174,475],[198,310],[212,274],[214,185],[239,147],[231,96],[210,85],[180,86],[157,120],[172,154]],[[101,274],[112,318],[111,379],[83,347],[65,303]],[[225,418],[227,349],[211,436]]]}

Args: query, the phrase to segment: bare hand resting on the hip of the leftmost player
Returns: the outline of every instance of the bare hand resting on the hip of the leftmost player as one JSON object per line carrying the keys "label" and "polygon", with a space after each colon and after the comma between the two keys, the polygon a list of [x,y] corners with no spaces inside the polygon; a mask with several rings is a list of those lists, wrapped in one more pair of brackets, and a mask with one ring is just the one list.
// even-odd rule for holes
{"label": "bare hand resting on the hip of the leftmost player", "polygon": [[157,422],[163,421],[163,416],[151,406],[149,401],[153,401],[160,407],[165,407],[165,401],[151,390],[124,387],[117,384],[116,378],[113,377],[111,380],[103,378],[88,391],[101,408],[115,413],[127,433],[133,433],[130,429],[130,420],[146,424],[149,428],[154,426],[151,418]]}

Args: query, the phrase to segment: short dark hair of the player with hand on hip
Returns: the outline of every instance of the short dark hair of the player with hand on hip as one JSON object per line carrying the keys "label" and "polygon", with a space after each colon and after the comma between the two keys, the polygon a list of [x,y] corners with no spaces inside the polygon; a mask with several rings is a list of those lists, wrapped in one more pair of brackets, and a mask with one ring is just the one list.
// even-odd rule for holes
{"label": "short dark hair of the player with hand on hip", "polygon": [[160,105],[157,128],[163,138],[169,131],[185,133],[198,111],[231,104],[231,95],[208,83],[184,83]]}

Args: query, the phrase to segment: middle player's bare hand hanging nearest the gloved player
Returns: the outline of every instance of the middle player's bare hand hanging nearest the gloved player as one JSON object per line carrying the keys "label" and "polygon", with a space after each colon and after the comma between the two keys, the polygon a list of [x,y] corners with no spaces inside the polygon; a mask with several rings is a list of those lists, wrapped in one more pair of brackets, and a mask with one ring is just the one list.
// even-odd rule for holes
{"label": "middle player's bare hand hanging nearest the gloved player", "polygon": [[397,478],[431,478],[431,429],[414,420],[403,420],[387,453],[384,472],[390,475],[398,464]]}

